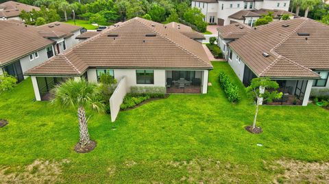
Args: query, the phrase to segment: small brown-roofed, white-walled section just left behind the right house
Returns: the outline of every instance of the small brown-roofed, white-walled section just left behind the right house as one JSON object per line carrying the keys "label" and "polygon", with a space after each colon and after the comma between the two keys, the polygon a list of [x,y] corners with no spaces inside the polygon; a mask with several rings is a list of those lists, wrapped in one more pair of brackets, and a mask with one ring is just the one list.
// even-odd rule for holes
{"label": "small brown-roofed, white-walled section just left behind the right house", "polygon": [[233,23],[230,25],[217,27],[218,39],[217,44],[223,52],[223,57],[228,59],[228,43],[237,40],[245,34],[252,31],[252,27],[249,27],[243,23]]}

